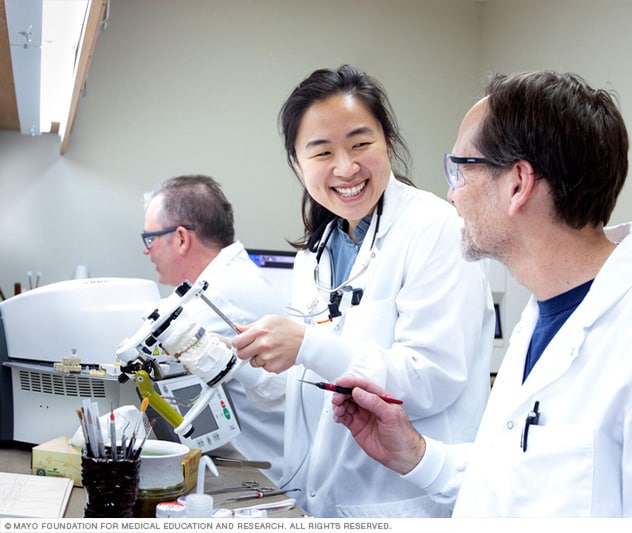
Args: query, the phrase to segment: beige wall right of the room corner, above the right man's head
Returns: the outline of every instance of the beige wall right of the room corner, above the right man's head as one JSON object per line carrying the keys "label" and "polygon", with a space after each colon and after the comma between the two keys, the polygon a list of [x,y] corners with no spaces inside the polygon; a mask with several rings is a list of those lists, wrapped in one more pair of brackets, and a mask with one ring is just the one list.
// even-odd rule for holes
{"label": "beige wall right of the room corner, above the right man's head", "polygon": [[[632,1],[487,0],[481,9],[482,73],[575,72],[592,86],[617,93],[632,137]],[[628,179],[610,223],[631,219]]]}

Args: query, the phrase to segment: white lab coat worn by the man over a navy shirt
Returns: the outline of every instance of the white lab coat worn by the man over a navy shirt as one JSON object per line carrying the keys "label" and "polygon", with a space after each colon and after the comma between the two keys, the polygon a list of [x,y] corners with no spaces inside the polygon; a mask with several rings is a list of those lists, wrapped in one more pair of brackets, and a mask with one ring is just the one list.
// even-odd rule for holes
{"label": "white lab coat worn by the man over a navy shirt", "polygon": [[[629,229],[610,235],[622,242],[521,384],[538,316],[536,302],[528,303],[471,450],[455,516],[632,517],[632,237],[622,236]],[[536,401],[539,423],[530,426],[523,451]]]}

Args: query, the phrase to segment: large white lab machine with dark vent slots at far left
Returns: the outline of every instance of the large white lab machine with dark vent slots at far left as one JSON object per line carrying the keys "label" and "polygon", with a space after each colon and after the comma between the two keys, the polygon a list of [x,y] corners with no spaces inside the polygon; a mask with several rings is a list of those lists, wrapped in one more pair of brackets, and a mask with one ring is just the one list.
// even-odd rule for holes
{"label": "large white lab machine with dark vent slots at far left", "polygon": [[[90,370],[115,363],[120,340],[138,329],[159,300],[149,280],[91,278],[52,283],[0,303],[0,438],[41,444],[70,437],[86,398],[102,413],[138,405],[133,383],[92,376]],[[80,359],[80,372],[55,369],[69,356]]]}

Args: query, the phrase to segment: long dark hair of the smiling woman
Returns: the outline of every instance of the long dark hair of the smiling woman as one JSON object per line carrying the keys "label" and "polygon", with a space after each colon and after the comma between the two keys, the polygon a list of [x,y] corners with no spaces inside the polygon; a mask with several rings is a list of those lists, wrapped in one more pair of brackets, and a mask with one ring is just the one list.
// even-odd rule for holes
{"label": "long dark hair of the smiling woman", "polygon": [[[279,113],[287,162],[296,174],[296,136],[305,112],[316,102],[339,94],[349,94],[361,100],[382,126],[386,144],[391,153],[395,177],[413,185],[406,176],[409,172],[410,153],[400,136],[395,114],[381,84],[351,65],[337,69],[319,69],[312,72],[290,94]],[[414,185],[413,185],[414,186]],[[315,202],[303,189],[301,202],[304,233],[290,242],[297,249],[312,248],[320,239],[328,222],[336,215]]]}

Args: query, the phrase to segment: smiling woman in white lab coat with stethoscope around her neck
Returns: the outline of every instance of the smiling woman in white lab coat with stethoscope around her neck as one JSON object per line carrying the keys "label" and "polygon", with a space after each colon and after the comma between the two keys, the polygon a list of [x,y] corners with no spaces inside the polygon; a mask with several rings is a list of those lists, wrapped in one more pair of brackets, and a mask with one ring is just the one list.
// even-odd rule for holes
{"label": "smiling woman in white lab coat with stethoscope around her neck", "polygon": [[[460,257],[454,208],[393,170],[407,169],[408,151],[376,80],[349,65],[314,71],[280,122],[304,187],[295,320],[266,316],[233,339],[241,359],[287,379],[280,485],[301,487],[297,500],[317,517],[448,516],[363,455],[333,421],[331,393],[304,383],[371,376],[416,427],[452,441],[473,437],[494,327],[482,267]],[[262,406],[271,383],[249,390]]]}

